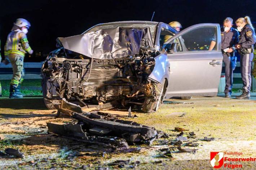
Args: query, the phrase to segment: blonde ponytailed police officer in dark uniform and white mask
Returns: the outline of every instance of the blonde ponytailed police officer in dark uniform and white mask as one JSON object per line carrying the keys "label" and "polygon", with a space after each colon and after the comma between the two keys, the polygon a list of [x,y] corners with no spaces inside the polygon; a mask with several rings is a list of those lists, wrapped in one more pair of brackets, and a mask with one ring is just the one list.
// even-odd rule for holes
{"label": "blonde ponytailed police officer in dark uniform and white mask", "polygon": [[240,54],[240,67],[243,81],[243,93],[240,96],[236,96],[236,98],[250,99],[253,45],[256,42],[256,36],[250,17],[238,18],[235,23],[238,31],[240,31],[239,41],[235,47]]}

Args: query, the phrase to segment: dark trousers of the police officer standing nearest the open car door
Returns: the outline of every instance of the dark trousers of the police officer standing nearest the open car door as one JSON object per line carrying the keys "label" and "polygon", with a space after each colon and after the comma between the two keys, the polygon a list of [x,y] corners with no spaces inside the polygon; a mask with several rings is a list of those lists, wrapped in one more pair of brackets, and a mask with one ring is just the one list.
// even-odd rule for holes
{"label": "dark trousers of the police officer standing nearest the open car door", "polygon": [[226,55],[225,53],[222,53],[223,56],[223,62],[225,65],[225,79],[226,79],[226,86],[225,86],[225,94],[230,93],[233,86],[233,70],[231,65],[231,58]]}

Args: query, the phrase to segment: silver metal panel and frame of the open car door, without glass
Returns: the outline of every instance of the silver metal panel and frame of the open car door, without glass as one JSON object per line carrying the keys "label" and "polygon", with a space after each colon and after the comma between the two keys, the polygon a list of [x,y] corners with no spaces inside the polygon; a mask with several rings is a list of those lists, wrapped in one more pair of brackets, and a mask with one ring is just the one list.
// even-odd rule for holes
{"label": "silver metal panel and frame of the open car door, without glass", "polygon": [[[223,58],[219,24],[197,24],[191,26],[170,38],[165,44],[199,27],[216,27],[217,49],[214,51],[186,51],[167,54],[170,63],[167,98],[173,96],[217,95]],[[212,65],[210,64],[211,62],[218,64]]]}

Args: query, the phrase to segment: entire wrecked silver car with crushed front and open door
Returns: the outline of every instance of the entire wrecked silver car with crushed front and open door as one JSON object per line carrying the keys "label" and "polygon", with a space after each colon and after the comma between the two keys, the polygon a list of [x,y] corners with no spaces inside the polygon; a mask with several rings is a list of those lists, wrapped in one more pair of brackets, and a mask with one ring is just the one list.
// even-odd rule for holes
{"label": "entire wrecked silver car with crushed front and open door", "polygon": [[[201,35],[189,40],[193,32]],[[218,43],[207,51],[211,41]],[[61,98],[87,107],[115,101],[149,113],[165,96],[215,96],[222,61],[219,41],[219,24],[177,33],[165,23],[146,21],[98,24],[81,35],[57,38],[58,49],[42,66],[45,104],[54,109],[52,102]],[[182,69],[186,77],[181,77]]]}

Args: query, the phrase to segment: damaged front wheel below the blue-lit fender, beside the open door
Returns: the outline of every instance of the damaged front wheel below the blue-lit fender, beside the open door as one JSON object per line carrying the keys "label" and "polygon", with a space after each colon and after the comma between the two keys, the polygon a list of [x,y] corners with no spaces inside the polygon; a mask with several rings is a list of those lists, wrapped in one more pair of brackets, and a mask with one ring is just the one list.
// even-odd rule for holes
{"label": "damaged front wheel below the blue-lit fender, beside the open door", "polygon": [[[156,85],[157,89],[154,88],[154,90],[156,91],[155,92],[156,97],[154,96],[145,97],[144,105],[142,106],[142,111],[144,113],[153,113],[158,110],[165,96],[165,87],[166,87],[166,80],[164,79],[162,83],[158,83]],[[155,98],[157,98],[157,100]]]}

